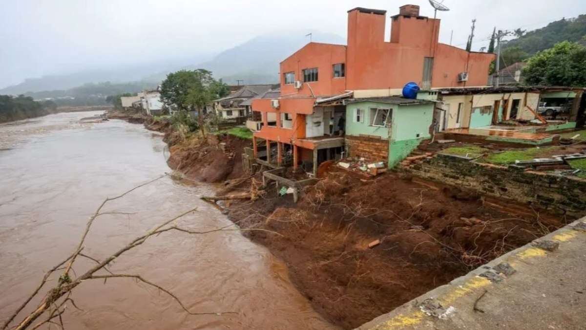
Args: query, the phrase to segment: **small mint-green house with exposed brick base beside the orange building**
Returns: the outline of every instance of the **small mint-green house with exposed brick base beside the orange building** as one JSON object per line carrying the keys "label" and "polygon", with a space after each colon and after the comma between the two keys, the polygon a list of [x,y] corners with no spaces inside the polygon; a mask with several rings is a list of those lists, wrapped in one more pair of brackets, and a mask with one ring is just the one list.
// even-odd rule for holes
{"label": "small mint-green house with exposed brick base beside the orange building", "polygon": [[369,97],[346,102],[345,144],[349,157],[386,161],[389,168],[430,138],[434,102]]}

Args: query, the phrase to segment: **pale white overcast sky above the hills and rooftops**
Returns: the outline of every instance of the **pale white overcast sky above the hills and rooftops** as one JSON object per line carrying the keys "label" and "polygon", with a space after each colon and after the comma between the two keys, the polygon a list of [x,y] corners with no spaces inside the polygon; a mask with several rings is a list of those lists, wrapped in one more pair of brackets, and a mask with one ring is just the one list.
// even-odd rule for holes
{"label": "pale white overcast sky above the hills and rooftops", "polygon": [[[267,32],[318,30],[346,36],[347,10],[421,6],[428,0],[2,0],[0,87],[25,78],[185,59],[220,52]],[[440,41],[464,47],[476,18],[474,50],[493,26],[536,29],[586,13],[584,0],[444,0]],[[387,22],[388,22],[387,18]],[[390,24],[390,23],[389,23]],[[193,63],[196,64],[196,63]]]}

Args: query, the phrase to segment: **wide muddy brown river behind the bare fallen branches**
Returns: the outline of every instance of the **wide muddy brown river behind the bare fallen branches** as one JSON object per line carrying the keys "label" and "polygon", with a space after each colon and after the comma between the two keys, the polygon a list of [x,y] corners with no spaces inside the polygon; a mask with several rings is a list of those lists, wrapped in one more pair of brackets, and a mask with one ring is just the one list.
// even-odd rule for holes
{"label": "wide muddy brown river behind the bare fallen branches", "polygon": [[[121,120],[79,123],[94,113],[62,113],[0,125],[0,320],[76,247],[87,218],[113,197],[168,172],[161,134]],[[84,253],[103,258],[161,221],[193,207],[183,227],[231,224],[199,196],[213,187],[165,177],[107,204]],[[76,262],[81,274],[91,264]],[[168,232],[122,255],[113,272],[141,274],[168,295],[130,279],[86,281],[73,298],[67,329],[333,329],[288,279],[280,260],[238,231]],[[50,282],[49,284],[54,284]],[[35,301],[38,302],[38,301]],[[22,319],[22,315],[18,318]],[[3,322],[3,321],[2,321]],[[53,326],[53,328],[55,328]]]}

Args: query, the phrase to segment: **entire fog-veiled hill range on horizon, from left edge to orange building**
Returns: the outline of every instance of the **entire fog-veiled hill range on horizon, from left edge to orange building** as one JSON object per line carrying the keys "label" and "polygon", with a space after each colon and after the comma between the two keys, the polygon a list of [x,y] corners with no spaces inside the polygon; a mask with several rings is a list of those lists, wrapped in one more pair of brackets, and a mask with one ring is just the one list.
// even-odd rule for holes
{"label": "entire fog-veiled hill range on horizon, from left edge to orange building", "polygon": [[[278,82],[279,63],[309,42],[308,31],[280,31],[257,36],[219,54],[205,53],[184,59],[136,65],[130,68],[86,70],[67,75],[29,78],[18,85],[0,89],[0,94],[21,94],[45,90],[68,90],[86,83],[148,82],[160,83],[169,72],[179,69],[207,69],[216,78],[236,85],[244,83]],[[346,40],[332,33],[311,31],[312,41],[345,44]],[[128,91],[134,92],[134,91]]]}

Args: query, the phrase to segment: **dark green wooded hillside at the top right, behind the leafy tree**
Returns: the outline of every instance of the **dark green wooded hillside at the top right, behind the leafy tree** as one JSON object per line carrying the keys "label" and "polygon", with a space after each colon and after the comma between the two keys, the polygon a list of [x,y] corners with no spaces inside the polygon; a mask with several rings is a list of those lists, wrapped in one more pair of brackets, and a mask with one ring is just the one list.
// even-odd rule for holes
{"label": "dark green wooded hillside at the top right, behind the leafy tree", "polygon": [[507,41],[503,49],[519,47],[530,55],[553,47],[561,41],[586,42],[586,15],[560,19],[547,26],[529,31],[523,36]]}

